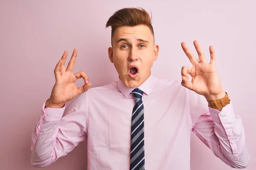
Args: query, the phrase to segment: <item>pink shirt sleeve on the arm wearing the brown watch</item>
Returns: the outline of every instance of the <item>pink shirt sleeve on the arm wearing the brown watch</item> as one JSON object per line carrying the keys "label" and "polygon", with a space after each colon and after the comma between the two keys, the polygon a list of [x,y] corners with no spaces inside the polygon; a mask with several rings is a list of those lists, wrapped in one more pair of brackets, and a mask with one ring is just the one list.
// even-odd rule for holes
{"label": "pink shirt sleeve on the arm wearing the brown watch", "polygon": [[221,111],[209,107],[204,96],[186,89],[192,131],[212,153],[230,167],[244,168],[249,162],[241,117],[236,116],[233,103]]}

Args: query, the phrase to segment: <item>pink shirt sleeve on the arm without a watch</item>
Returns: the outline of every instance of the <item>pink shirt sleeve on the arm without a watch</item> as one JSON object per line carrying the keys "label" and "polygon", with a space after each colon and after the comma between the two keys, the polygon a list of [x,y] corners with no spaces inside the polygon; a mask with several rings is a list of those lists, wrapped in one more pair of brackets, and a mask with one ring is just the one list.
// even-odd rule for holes
{"label": "pink shirt sleeve on the arm without a watch", "polygon": [[[46,167],[67,155],[79,142],[87,139],[86,113],[87,98],[81,94],[63,116],[63,108],[43,109],[32,130],[31,164],[34,167]],[[63,117],[62,117],[63,116]]]}

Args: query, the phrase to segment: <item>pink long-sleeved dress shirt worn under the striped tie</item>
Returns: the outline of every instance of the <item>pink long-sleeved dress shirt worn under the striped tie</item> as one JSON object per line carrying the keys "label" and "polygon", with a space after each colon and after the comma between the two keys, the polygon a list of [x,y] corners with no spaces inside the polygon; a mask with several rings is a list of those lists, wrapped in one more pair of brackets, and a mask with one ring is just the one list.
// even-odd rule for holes
{"label": "pink long-sleeved dress shirt worn under the striped tie", "polygon": [[[249,161],[244,128],[232,102],[222,111],[180,82],[151,76],[144,91],[145,170],[190,170],[193,131],[230,167]],[[87,139],[87,170],[129,170],[134,96],[118,79],[79,95],[63,108],[45,108],[32,132],[31,164],[46,167]],[[62,117],[63,116],[63,117]]]}

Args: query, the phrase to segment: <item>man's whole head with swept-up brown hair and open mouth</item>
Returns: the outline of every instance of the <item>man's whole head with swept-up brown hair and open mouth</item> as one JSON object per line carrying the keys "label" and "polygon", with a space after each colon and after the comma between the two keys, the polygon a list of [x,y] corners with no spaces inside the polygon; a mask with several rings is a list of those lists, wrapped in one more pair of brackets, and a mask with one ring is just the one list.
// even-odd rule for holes
{"label": "man's whole head with swept-up brown hair and open mouth", "polygon": [[150,76],[158,56],[151,17],[143,8],[123,8],[109,18],[108,26],[112,28],[109,59],[122,82],[136,88]]}

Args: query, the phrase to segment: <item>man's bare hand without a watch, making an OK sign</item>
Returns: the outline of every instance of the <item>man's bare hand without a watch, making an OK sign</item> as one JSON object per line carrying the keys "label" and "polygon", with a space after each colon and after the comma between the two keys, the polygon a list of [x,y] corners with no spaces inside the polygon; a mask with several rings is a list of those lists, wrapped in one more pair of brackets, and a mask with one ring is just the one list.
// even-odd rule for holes
{"label": "man's bare hand without a watch, making an OK sign", "polygon": [[[67,65],[67,69],[65,70],[67,51],[64,51],[64,54],[54,69],[56,82],[52,88],[52,94],[49,97],[45,108],[62,108],[66,102],[74,99],[79,94],[88,91],[91,83],[89,83],[89,78],[84,71],[73,74],[76,56],[77,49],[75,48],[70,62]],[[85,84],[78,88],[76,87],[75,82],[80,78],[84,79]]]}

